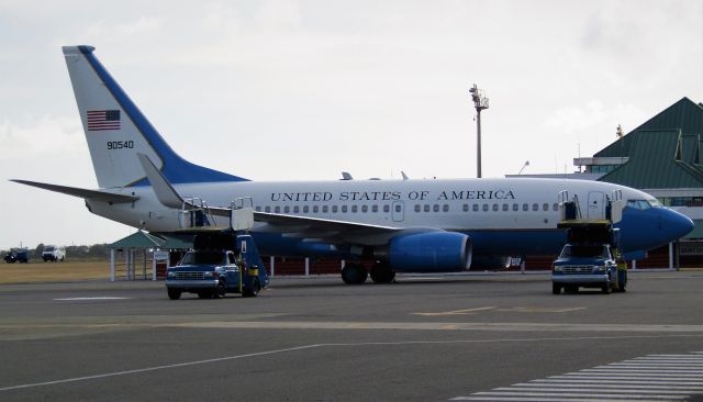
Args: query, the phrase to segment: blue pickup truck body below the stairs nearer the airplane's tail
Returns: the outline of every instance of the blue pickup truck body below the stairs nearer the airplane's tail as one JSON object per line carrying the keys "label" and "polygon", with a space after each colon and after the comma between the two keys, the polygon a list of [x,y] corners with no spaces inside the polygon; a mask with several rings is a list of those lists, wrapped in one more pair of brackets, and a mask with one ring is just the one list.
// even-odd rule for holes
{"label": "blue pickup truck body below the stairs nearer the airplane's tail", "polygon": [[[239,292],[244,297],[255,297],[261,290],[261,283],[267,284],[266,272],[261,270],[264,272],[259,272],[258,267],[248,267],[248,272],[239,272],[232,250],[191,250],[177,266],[167,269],[166,289],[171,300],[180,299],[183,292],[196,293],[200,299]],[[250,276],[246,282],[244,273]]]}

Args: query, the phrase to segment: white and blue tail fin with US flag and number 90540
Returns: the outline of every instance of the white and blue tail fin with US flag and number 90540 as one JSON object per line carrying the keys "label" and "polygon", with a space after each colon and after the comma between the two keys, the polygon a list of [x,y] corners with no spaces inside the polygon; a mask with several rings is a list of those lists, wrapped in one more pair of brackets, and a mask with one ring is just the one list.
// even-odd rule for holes
{"label": "white and blue tail fin with US flag and number 90540", "polygon": [[78,112],[101,188],[147,186],[137,157],[145,154],[171,183],[245,181],[181,158],[93,55],[91,46],[64,46]]}

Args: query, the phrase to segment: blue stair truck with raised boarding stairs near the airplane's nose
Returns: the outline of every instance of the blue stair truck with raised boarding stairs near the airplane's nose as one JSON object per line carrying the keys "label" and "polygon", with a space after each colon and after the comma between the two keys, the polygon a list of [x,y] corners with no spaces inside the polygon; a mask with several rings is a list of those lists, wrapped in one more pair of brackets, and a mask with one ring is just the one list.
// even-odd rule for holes
{"label": "blue stair truck with raised boarding stairs near the airplane's nose", "polygon": [[[627,265],[617,246],[620,232],[613,226],[622,216],[622,202],[617,193],[606,200],[603,216],[582,219],[578,199],[568,200],[560,194],[562,220],[559,228],[567,231],[563,246],[551,268],[551,292],[578,292],[580,287],[600,288],[603,293],[625,291]],[[566,199],[566,200],[565,200]],[[599,219],[602,217],[602,219]]]}

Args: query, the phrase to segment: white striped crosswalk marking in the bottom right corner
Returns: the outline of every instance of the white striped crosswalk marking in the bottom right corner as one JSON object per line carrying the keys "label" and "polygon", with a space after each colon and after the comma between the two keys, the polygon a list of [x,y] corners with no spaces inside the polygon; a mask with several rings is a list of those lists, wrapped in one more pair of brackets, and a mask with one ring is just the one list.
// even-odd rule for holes
{"label": "white striped crosswalk marking in the bottom right corner", "polygon": [[[689,355],[666,355],[667,360],[676,360],[682,369],[650,366],[641,370],[641,358],[598,366],[578,372],[567,372],[546,379],[521,382],[491,391],[476,392],[468,397],[453,398],[451,401],[676,401],[703,393],[703,367],[699,359]],[[657,359],[665,355],[650,355]],[[654,360],[656,361],[656,360]],[[634,367],[634,368],[633,368]],[[683,373],[685,372],[685,373]],[[601,376],[605,376],[602,379]],[[650,379],[651,378],[651,379]]]}

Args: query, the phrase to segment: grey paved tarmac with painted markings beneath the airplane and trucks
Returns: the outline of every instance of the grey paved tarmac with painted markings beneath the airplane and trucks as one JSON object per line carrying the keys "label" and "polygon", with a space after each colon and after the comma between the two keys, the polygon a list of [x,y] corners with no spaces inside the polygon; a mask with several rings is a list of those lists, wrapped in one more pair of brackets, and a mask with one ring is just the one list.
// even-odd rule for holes
{"label": "grey paved tarmac with painted markings beneath the airplane and trucks", "polygon": [[545,273],[178,301],[150,281],[2,286],[0,360],[2,401],[701,401],[703,272],[560,295]]}

